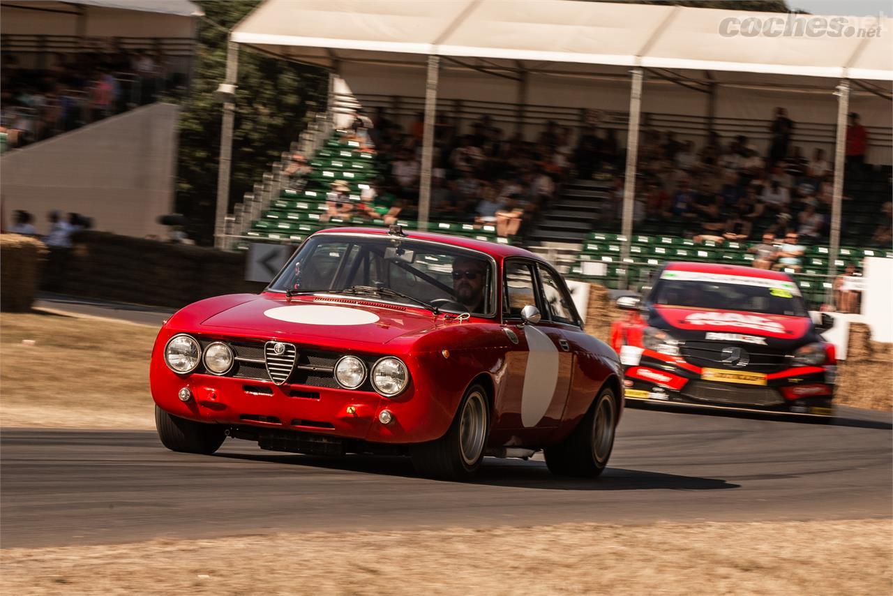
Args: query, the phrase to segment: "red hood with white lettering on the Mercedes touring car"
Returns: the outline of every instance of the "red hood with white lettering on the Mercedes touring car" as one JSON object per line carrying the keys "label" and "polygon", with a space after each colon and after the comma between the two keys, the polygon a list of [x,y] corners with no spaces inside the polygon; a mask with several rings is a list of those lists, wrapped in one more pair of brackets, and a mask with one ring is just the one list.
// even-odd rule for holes
{"label": "red hood with white lettering on the Mercedes touring car", "polygon": [[797,340],[812,328],[812,321],[806,316],[657,305],[655,312],[673,327],[685,331],[747,333],[778,340]]}

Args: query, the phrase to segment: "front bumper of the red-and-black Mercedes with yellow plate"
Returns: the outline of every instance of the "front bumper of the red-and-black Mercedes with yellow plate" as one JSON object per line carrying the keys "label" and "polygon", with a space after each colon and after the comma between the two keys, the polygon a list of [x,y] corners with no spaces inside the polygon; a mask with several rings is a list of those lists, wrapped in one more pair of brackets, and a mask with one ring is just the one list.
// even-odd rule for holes
{"label": "front bumper of the red-and-black Mercedes with yellow plate", "polygon": [[833,416],[834,366],[770,374],[719,371],[645,350],[624,369],[626,399],[797,416]]}

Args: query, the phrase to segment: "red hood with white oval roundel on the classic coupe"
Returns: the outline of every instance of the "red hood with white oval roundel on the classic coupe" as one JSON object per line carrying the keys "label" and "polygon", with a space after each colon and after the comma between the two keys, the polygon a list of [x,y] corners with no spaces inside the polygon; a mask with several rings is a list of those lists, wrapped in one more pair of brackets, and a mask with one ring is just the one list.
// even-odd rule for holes
{"label": "red hood with white oval roundel on the classic coupe", "polygon": [[426,331],[436,323],[430,314],[410,308],[373,306],[373,302],[361,306],[355,302],[307,297],[287,302],[259,296],[209,316],[202,325],[221,333],[238,330],[238,335],[345,346],[348,343],[381,345],[407,333]]}

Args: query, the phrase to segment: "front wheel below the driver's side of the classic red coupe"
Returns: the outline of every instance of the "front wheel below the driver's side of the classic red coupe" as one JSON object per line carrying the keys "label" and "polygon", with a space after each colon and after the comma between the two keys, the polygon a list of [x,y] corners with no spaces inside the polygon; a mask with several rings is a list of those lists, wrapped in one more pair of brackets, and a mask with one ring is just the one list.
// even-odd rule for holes
{"label": "front wheel below the driver's side of the classic red coupe", "polygon": [[489,416],[487,391],[472,385],[459,402],[447,433],[437,441],[410,448],[415,471],[442,480],[462,480],[472,475],[484,458]]}

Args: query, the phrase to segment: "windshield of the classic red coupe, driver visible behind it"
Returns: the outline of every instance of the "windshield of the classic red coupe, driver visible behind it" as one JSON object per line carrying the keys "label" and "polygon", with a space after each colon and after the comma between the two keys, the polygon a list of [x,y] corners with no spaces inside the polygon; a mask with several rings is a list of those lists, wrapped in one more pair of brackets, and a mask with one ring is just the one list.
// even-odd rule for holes
{"label": "windshield of the classic red coupe, driver visible behind it", "polygon": [[494,276],[492,261],[472,250],[389,236],[325,234],[305,242],[270,290],[378,292],[377,298],[388,302],[419,306],[421,301],[439,310],[491,316]]}

